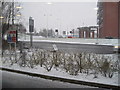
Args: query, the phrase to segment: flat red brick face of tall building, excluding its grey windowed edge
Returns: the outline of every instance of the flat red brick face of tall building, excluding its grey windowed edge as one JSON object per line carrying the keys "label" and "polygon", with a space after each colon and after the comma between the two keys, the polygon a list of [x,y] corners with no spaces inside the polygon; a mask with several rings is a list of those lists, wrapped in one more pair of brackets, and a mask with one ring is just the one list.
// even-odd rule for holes
{"label": "flat red brick face of tall building, excluding its grey windowed edge", "polygon": [[118,2],[104,2],[103,28],[100,37],[110,36],[118,38]]}

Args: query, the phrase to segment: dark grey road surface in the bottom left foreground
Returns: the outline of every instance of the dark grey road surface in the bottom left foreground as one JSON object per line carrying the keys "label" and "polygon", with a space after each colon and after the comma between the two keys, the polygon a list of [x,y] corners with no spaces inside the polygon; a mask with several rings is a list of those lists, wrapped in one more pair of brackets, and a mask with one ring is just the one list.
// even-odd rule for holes
{"label": "dark grey road surface in the bottom left foreground", "polygon": [[95,88],[0,70],[1,73],[2,88]]}

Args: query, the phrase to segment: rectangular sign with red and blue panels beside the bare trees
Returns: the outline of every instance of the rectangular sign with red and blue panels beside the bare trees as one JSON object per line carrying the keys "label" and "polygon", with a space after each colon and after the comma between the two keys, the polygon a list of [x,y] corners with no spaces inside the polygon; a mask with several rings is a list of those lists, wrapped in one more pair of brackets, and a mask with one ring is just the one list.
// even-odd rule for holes
{"label": "rectangular sign with red and blue panels beside the bare trees", "polygon": [[15,43],[16,42],[16,30],[8,31],[7,41],[8,41],[8,43]]}

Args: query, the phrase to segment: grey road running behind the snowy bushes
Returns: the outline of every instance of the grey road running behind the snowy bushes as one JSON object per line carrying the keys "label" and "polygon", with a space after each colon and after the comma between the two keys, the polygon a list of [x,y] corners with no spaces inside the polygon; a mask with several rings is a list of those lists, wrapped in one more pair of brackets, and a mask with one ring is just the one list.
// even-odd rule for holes
{"label": "grey road running behind the snowy bushes", "polygon": [[[26,41],[26,45],[29,47],[30,42]],[[99,54],[112,54],[113,46],[110,45],[95,45],[95,44],[75,44],[75,43],[60,43],[60,42],[33,42],[33,47],[52,50],[53,45],[61,51],[66,52],[89,52],[89,53],[99,53]]]}

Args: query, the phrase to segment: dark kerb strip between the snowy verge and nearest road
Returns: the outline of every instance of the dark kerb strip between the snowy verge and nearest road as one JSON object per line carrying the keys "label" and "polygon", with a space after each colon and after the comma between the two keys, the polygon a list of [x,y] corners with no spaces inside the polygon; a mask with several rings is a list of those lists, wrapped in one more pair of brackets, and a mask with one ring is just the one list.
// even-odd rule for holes
{"label": "dark kerb strip between the snowy verge and nearest road", "polygon": [[25,75],[29,75],[29,76],[32,76],[32,77],[40,77],[40,78],[49,79],[49,80],[69,82],[69,83],[73,83],[73,84],[87,85],[87,86],[99,87],[99,88],[104,88],[104,89],[115,89],[115,90],[117,90],[118,88],[120,88],[120,86],[106,85],[106,84],[79,81],[79,80],[72,80],[72,79],[66,79],[66,78],[55,77],[55,76],[47,76],[47,75],[41,75],[41,74],[37,74],[37,73],[25,72],[25,71],[20,71],[20,70],[13,70],[13,69],[2,68],[2,67],[0,67],[0,70],[9,71],[9,72],[13,72],[13,73],[19,73],[19,74],[25,74]]}

